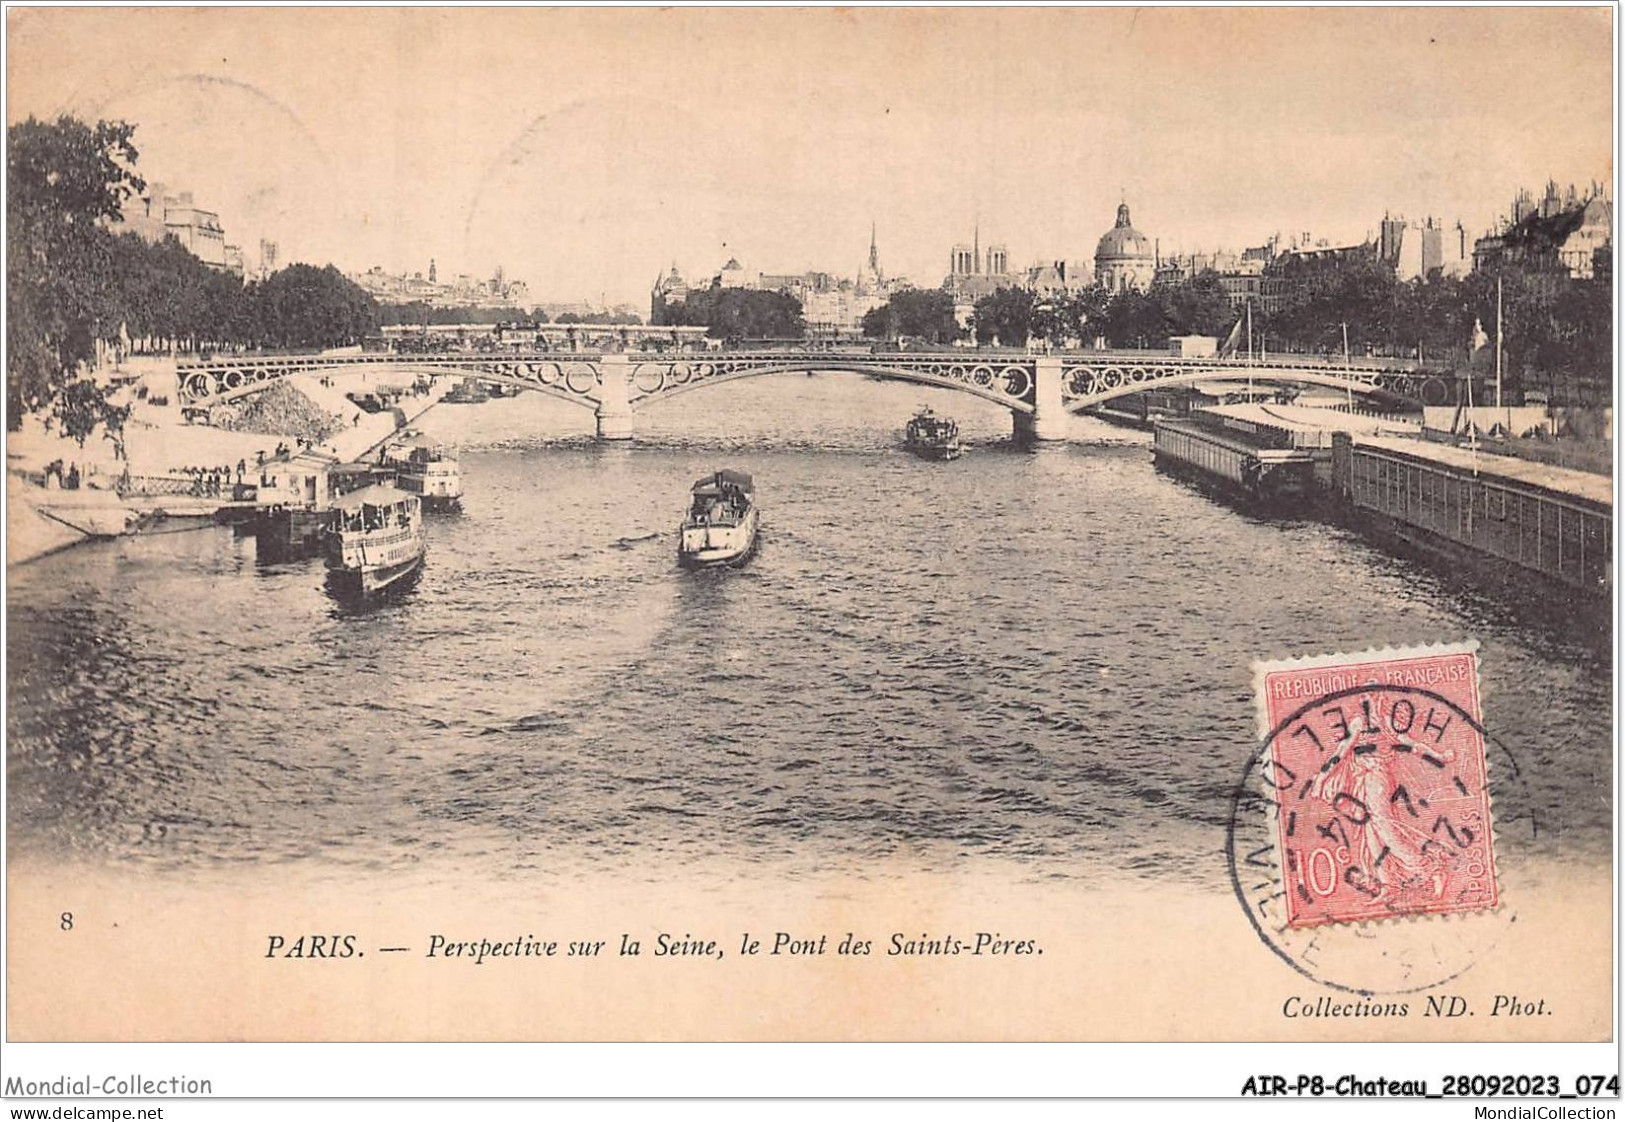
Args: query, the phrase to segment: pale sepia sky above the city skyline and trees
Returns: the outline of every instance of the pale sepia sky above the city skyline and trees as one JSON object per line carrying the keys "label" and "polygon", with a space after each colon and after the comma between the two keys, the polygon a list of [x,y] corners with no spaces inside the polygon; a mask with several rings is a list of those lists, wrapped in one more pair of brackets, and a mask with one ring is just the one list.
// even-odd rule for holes
{"label": "pale sepia sky above the city skyline and trees", "polygon": [[708,276],[938,285],[949,249],[1092,259],[1471,236],[1612,179],[1607,8],[11,8],[6,120],[135,122],[258,263],[645,306]]}

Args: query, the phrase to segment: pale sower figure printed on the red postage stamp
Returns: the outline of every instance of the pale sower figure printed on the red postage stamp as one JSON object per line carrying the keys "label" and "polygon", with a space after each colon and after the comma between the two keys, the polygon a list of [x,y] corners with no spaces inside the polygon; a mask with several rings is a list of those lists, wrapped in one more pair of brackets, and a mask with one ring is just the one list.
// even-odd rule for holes
{"label": "pale sower figure printed on the red postage stamp", "polygon": [[1329,803],[1347,823],[1349,850],[1363,876],[1363,891],[1389,899],[1427,886],[1435,898],[1443,896],[1453,863],[1450,850],[1404,821],[1402,815],[1414,818],[1417,810],[1396,772],[1406,756],[1446,764],[1454,751],[1445,745],[1424,748],[1394,730],[1393,722],[1384,728],[1381,701],[1373,694],[1360,696],[1360,709],[1347,728],[1332,748],[1336,763],[1315,776],[1310,795]]}

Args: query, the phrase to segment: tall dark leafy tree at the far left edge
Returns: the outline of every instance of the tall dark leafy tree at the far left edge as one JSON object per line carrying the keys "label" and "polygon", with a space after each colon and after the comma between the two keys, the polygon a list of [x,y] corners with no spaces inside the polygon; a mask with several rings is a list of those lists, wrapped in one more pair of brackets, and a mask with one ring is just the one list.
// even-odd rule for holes
{"label": "tall dark leafy tree at the far left edge", "polygon": [[98,226],[117,218],[145,184],[135,174],[135,127],[29,117],[6,128],[6,407],[8,426],[49,413],[81,442],[127,408],[84,377],[96,343],[119,335],[117,252]]}

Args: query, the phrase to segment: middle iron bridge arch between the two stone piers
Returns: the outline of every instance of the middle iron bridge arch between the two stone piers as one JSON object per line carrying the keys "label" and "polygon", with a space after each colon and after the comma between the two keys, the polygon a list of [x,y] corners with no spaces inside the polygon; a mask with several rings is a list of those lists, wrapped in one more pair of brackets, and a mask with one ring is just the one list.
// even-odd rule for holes
{"label": "middle iron bridge arch between the two stone piers", "polygon": [[679,361],[629,361],[627,400],[634,410],[665,402],[679,394],[723,385],[746,377],[774,374],[863,374],[887,382],[910,382],[959,390],[985,402],[1003,405],[1012,413],[1032,413],[1034,371],[1030,364],[1011,361],[920,361],[920,363],[855,363],[838,354],[809,354],[783,359],[730,359],[694,356]]}

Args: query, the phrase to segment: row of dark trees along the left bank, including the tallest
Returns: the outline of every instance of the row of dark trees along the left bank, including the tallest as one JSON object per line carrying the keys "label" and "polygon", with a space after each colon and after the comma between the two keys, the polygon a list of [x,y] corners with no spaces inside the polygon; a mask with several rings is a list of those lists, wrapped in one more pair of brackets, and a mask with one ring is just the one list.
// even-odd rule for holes
{"label": "row of dark trees along the left bank, including the tallest", "polygon": [[81,444],[128,413],[89,371],[99,348],[304,350],[359,343],[377,302],[332,265],[244,285],[174,239],[109,229],[145,184],[135,127],[29,117],[6,130],[6,405],[13,431],[42,413]]}

